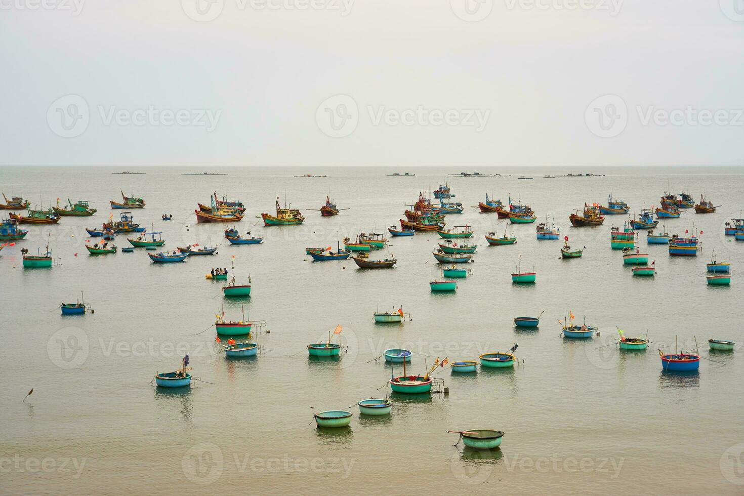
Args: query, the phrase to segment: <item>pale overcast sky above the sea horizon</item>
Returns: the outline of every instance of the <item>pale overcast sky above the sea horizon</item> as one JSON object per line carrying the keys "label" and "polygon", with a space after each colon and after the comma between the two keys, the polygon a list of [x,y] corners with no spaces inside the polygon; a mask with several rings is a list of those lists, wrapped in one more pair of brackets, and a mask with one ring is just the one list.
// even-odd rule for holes
{"label": "pale overcast sky above the sea horizon", "polygon": [[5,165],[744,164],[742,0],[0,0],[0,67]]}

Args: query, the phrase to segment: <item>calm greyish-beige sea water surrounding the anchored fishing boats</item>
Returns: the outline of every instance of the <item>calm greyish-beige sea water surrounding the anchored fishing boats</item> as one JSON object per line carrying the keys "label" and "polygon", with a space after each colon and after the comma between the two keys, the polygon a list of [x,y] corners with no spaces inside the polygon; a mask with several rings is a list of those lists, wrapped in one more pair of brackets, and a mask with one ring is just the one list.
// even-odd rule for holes
{"label": "calm greyish-beige sea water surrounding the anchored fishing boats", "polygon": [[[744,207],[743,170],[612,168],[591,170],[604,177],[542,178],[564,171],[481,168],[512,175],[450,177],[466,210],[447,221],[474,226],[479,245],[456,294],[429,291],[438,275],[435,233],[391,239],[399,263],[384,271],[362,271],[353,261],[312,263],[304,248],[335,248],[344,236],[383,232],[420,190],[431,192],[461,167],[411,170],[417,175],[409,178],[386,177],[391,170],[383,168],[216,170],[229,175],[0,169],[0,189],[9,196],[45,206],[57,197],[88,199],[98,209],[94,217],[31,226],[26,240],[0,253],[0,492],[493,494],[505,484],[510,493],[529,494],[744,490],[744,357],[740,347],[714,353],[706,343],[743,341],[737,315],[744,242],[723,235],[724,222]],[[331,177],[292,177],[304,173]],[[522,174],[534,179],[517,179]],[[120,189],[144,197],[147,207],[133,210],[135,219],[163,231],[168,248],[218,244],[219,254],[173,265],[150,263],[145,251],[89,256],[83,228],[108,218],[108,200]],[[696,258],[670,258],[664,245],[647,246],[641,234],[655,278],[633,278],[620,252],[610,250],[610,227],[626,217],[609,216],[599,228],[568,224],[572,209],[603,203],[610,192],[634,212],[658,204],[668,189],[705,192],[722,207],[662,221],[670,233],[703,231]],[[246,203],[240,229],[266,236],[263,245],[225,245],[224,226],[196,225],[196,202],[208,203],[215,190]],[[516,245],[485,245],[485,233],[504,231],[495,214],[472,208],[486,192],[504,202],[510,194],[541,219],[554,217],[571,245],[586,246],[584,257],[561,260],[562,243],[537,241],[534,225],[509,228]],[[328,194],[350,210],[333,218],[308,210],[299,227],[263,228],[254,218],[271,212],[276,196],[308,209]],[[162,213],[173,213],[173,221],[162,222]],[[61,265],[22,268],[20,248],[36,251],[48,237]],[[125,237],[118,236],[120,248],[128,245]],[[713,249],[733,267],[729,287],[705,283]],[[237,278],[250,275],[253,283],[245,312],[270,331],[258,335],[266,354],[254,359],[226,359],[210,329],[222,308],[228,318],[241,315],[240,301],[225,300],[221,283],[204,277],[213,266],[229,268],[232,255]],[[510,282],[520,255],[523,269],[536,269],[534,286]],[[60,302],[81,291],[95,313],[62,317]],[[378,305],[403,305],[413,320],[375,324]],[[560,338],[557,319],[569,309],[599,326],[600,337]],[[514,329],[514,317],[540,312],[539,329]],[[347,354],[309,359],[305,346],[339,323]],[[615,326],[629,336],[648,332],[649,350],[618,352]],[[520,364],[513,370],[453,376],[438,369],[434,376],[445,381],[448,396],[394,396],[393,413],[379,419],[349,408],[347,429],[320,430],[312,422],[310,407],[346,409],[388,394],[391,367],[374,361],[387,348],[413,350],[411,369],[423,373],[437,357],[477,359],[515,343]],[[699,373],[662,373],[658,348],[698,345]],[[185,391],[150,384],[156,371],[175,370],[184,352],[201,382]],[[505,431],[500,451],[455,448],[457,435],[445,432],[478,427]]]}

